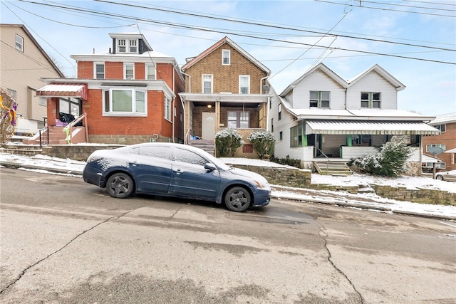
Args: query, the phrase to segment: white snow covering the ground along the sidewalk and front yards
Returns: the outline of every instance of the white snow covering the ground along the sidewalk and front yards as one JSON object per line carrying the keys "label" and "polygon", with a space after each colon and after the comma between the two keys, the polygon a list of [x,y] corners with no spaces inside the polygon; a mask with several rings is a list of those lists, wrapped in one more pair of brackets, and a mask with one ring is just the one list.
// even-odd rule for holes
{"label": "white snow covering the ground along the sidewalk and front yards", "polygon": [[[283,167],[274,162],[246,159],[246,158],[221,158],[226,164],[246,164],[261,167]],[[65,175],[80,175],[86,162],[72,159],[61,159],[45,155],[27,157],[1,152],[0,162],[19,164],[35,172],[50,173],[53,170]],[[296,168],[295,168],[296,169]],[[1,178],[1,176],[0,176]],[[456,183],[432,179],[432,177],[373,177],[366,174],[352,174],[346,177],[323,176],[312,174],[312,184],[333,185],[363,185],[388,184],[393,187],[406,187],[407,189],[430,188],[447,192],[456,192]],[[323,204],[350,206],[353,208],[372,209],[375,211],[418,214],[423,216],[441,216],[444,219],[456,219],[456,206],[443,206],[432,204],[417,204],[410,201],[395,201],[377,196],[375,193],[349,194],[346,192],[318,191],[293,187],[273,185],[272,196],[276,199],[289,199],[294,201],[310,201]]]}

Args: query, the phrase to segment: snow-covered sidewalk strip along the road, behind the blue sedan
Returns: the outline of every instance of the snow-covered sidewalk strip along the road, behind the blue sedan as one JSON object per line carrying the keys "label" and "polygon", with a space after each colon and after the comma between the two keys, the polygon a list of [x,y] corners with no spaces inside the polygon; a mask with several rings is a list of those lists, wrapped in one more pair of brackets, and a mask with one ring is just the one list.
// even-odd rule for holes
{"label": "snow-covered sidewalk strip along the road, behind the blue sedan", "polygon": [[[35,172],[81,177],[85,164],[85,162],[78,162],[71,159],[58,159],[56,157],[46,157],[43,155],[26,157],[23,155],[0,152],[0,166],[14,169],[27,169]],[[318,179],[318,177],[315,178]],[[279,185],[271,185],[271,188],[271,197],[274,199],[330,204],[333,206],[380,211],[390,214],[408,214],[433,219],[456,221],[456,206],[395,201],[393,199],[384,199],[373,193],[348,194],[346,192],[318,191],[282,187]]]}

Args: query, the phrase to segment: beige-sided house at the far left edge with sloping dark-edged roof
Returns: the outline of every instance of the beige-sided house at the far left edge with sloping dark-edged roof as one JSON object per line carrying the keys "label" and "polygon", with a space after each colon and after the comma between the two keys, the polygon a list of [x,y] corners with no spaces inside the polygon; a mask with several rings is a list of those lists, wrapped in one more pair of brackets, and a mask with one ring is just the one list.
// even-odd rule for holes
{"label": "beige-sided house at the far left edge with sloping dark-edged roof", "polygon": [[46,98],[36,96],[43,86],[40,78],[65,75],[24,25],[0,24],[0,40],[0,87],[18,104],[16,132],[35,134],[47,115]]}

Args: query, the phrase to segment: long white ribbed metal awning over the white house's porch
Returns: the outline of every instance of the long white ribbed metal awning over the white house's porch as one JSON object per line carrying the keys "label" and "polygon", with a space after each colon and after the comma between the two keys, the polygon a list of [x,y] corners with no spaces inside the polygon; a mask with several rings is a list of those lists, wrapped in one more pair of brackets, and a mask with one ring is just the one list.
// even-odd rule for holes
{"label": "long white ribbed metal awning over the white house's porch", "polygon": [[306,135],[440,135],[422,121],[307,120]]}

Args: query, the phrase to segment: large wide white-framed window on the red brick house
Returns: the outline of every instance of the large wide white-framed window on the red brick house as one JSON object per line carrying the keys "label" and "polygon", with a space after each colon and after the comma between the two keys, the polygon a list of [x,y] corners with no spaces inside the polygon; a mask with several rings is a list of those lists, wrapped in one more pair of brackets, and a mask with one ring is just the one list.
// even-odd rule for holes
{"label": "large wide white-framed window on the red brick house", "polygon": [[141,115],[146,114],[145,90],[115,88],[104,90],[103,114]]}

